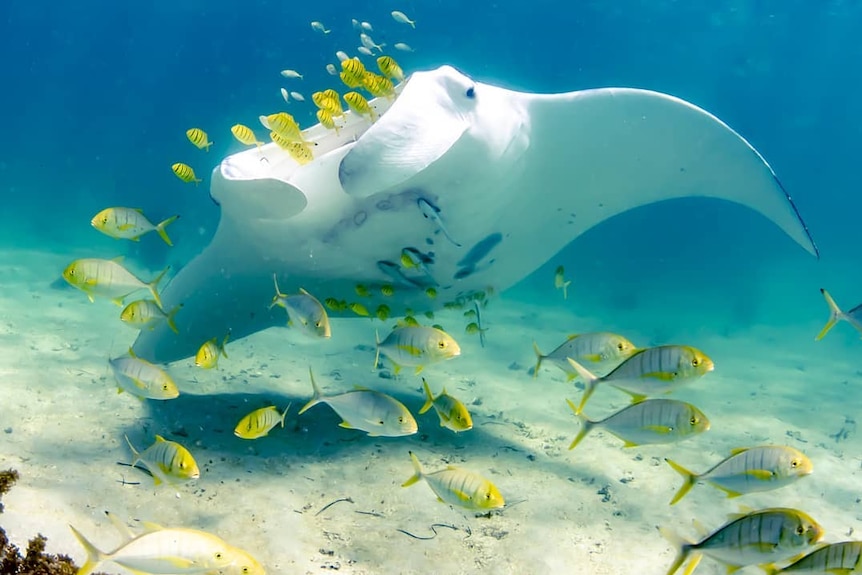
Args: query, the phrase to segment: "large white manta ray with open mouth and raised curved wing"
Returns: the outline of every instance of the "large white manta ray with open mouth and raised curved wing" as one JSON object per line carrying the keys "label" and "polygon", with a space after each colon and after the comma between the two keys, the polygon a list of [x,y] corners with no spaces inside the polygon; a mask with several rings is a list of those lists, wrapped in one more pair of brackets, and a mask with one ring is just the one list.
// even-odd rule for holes
{"label": "large white manta ray with open mouth and raised curved wing", "polygon": [[235,340],[283,325],[283,310],[269,309],[274,276],[346,315],[362,313],[351,303],[399,315],[483,297],[593,226],[673,198],[747,206],[818,255],[766,160],[679,98],[633,88],[530,94],[450,66],[415,72],[398,92],[372,100],[374,123],[347,112],[337,133],[305,130],[310,163],[276,144],[221,162],[210,187],[221,206],[214,237],[161,295],[165,309],[182,304],[179,333],[141,332],[138,356],[174,361],[228,331]]}

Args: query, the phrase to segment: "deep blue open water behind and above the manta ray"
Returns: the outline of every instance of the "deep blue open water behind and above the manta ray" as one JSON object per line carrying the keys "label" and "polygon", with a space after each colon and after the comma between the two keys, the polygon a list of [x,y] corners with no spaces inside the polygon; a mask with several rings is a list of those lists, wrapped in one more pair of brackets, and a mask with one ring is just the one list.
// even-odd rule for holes
{"label": "deep blue open water behind and above the manta ray", "polygon": [[[308,98],[310,86],[332,85],[324,66],[337,62],[336,49],[355,50],[350,19],[357,18],[374,24],[378,42],[416,49],[396,53],[408,72],[452,64],[511,89],[632,86],[705,108],[763,154],[821,252],[815,261],[741,207],[671,202],[590,231],[512,297],[554,295],[553,269],[565,263],[573,309],[612,310],[618,324],[627,313],[659,309],[677,327],[799,330],[825,319],[819,287],[848,308],[862,301],[862,4],[467,4],[5,2],[0,246],[128,250],[153,268],[182,264],[215,230],[218,209],[206,183],[218,161],[240,149],[230,126],[255,125],[263,111],[282,109],[282,86]],[[392,21],[395,9],[418,28]],[[332,34],[313,31],[311,20]],[[284,80],[284,68],[305,79]],[[310,98],[291,111],[303,126],[311,123]],[[198,125],[214,141],[208,155],[186,140],[186,128]],[[192,164],[204,185],[179,182],[170,170],[179,161]],[[89,219],[109,205],[141,207],[154,220],[181,213],[171,229],[180,255],[158,241],[118,247],[95,234]]]}

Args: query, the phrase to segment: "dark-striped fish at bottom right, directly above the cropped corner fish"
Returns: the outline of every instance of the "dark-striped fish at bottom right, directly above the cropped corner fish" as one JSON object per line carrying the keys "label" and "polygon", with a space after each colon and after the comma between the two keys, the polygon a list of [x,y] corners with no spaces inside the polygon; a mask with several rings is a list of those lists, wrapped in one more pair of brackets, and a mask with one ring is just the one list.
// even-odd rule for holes
{"label": "dark-striped fish at bottom right, directly above the cropped corner fish", "polygon": [[[802,511],[771,508],[732,519],[697,543],[680,540],[666,530],[662,533],[679,545],[679,553],[667,572],[672,575],[691,555],[695,556],[695,566],[700,555],[729,567],[781,561],[817,543],[823,528]],[[692,571],[692,566],[686,569],[687,574]]]}

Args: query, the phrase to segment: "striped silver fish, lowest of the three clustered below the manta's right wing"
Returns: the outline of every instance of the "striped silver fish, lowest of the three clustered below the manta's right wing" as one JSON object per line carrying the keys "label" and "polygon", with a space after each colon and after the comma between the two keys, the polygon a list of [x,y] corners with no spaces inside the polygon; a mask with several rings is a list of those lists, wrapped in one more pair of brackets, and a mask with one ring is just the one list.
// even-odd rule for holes
{"label": "striped silver fish, lowest of the three clustered below the manta's right wing", "polygon": [[625,441],[626,447],[674,443],[709,429],[709,419],[695,406],[674,399],[647,399],[634,403],[600,421],[591,421],[569,407],[581,422],[581,430],[569,449],[574,449],[593,429],[604,429]]}

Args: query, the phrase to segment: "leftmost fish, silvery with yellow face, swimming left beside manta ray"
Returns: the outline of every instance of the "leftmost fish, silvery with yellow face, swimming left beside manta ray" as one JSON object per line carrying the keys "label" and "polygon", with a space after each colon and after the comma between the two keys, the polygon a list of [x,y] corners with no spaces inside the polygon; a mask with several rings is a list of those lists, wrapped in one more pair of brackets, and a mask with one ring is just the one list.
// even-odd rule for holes
{"label": "leftmost fish, silvery with yellow face, swimming left beside manta ray", "polygon": [[85,258],[75,260],[63,270],[63,279],[75,286],[93,301],[93,296],[109,298],[117,305],[123,305],[123,299],[128,295],[140,290],[148,289],[159,307],[162,306],[162,298],[156,286],[167,273],[165,268],[156,278],[147,283],[138,279],[129,270],[124,268],[116,260],[102,260]]}

